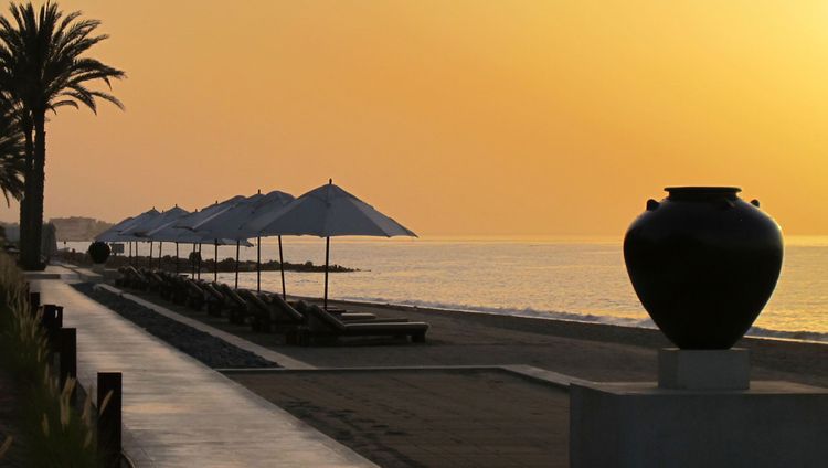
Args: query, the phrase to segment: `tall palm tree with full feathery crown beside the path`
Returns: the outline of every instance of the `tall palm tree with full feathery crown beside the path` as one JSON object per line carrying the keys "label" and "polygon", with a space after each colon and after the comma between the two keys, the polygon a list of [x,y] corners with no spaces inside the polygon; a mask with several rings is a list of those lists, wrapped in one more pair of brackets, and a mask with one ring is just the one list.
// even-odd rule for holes
{"label": "tall palm tree with full feathery crown beside the path", "polygon": [[[97,113],[97,99],[124,105],[109,93],[91,89],[95,82],[112,87],[124,72],[85,56],[106,40],[95,35],[97,20],[85,20],[75,11],[64,17],[57,3],[35,10],[32,3],[9,8],[11,21],[0,17],[0,86],[20,105],[19,121],[25,140],[25,187],[21,205],[23,267],[41,267],[40,238],[43,227],[43,189],[46,160],[46,111],[81,105]],[[25,226],[23,226],[25,224]]]}

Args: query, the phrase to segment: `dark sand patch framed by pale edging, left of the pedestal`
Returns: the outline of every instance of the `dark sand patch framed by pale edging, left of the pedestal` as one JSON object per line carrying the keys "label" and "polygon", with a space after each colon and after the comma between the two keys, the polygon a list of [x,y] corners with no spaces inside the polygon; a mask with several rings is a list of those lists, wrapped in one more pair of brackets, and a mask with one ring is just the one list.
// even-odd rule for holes
{"label": "dark sand patch framed by pale edging, left of the pedestal", "polygon": [[566,467],[569,395],[502,371],[232,374],[381,467]]}

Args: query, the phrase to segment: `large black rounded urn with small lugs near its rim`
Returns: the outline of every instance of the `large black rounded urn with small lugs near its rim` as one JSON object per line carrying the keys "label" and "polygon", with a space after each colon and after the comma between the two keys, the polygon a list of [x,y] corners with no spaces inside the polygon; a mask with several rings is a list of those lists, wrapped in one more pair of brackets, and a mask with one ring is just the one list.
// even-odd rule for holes
{"label": "large black rounded urn with small lugs near its rim", "polygon": [[730,187],[677,187],[649,200],[624,237],[633,287],[681,349],[728,349],[771,298],[782,267],[776,222]]}

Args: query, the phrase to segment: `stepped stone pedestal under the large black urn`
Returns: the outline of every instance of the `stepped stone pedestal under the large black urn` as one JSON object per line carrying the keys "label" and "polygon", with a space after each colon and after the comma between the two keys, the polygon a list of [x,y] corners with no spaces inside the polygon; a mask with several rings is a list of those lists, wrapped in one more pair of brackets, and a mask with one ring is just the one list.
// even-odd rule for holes
{"label": "stepped stone pedestal under the large black urn", "polygon": [[664,350],[659,385],[571,385],[571,466],[825,466],[828,389],[765,381],[747,389],[746,355]]}

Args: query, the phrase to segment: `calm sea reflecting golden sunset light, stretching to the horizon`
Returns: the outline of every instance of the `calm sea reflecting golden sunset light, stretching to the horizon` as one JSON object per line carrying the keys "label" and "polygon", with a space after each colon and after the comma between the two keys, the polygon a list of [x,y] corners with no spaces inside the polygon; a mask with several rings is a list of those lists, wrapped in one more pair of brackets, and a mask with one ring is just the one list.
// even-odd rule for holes
{"label": "calm sea reflecting golden sunset light, stretching to the horizon", "polygon": [[[286,262],[325,262],[322,240],[283,244]],[[182,257],[191,248],[181,245]],[[173,244],[163,253],[174,253]],[[213,247],[202,255],[212,258]],[[627,277],[620,240],[333,238],[330,255],[332,264],[360,269],[331,274],[331,298],[654,327]],[[233,256],[235,246],[219,248],[220,258]],[[243,247],[241,256],[255,260],[256,248]],[[278,258],[275,238],[263,240],[262,257]],[[233,281],[233,274],[219,277]],[[288,294],[322,294],[322,274],[288,272],[286,281]],[[256,274],[242,273],[240,286],[255,288]],[[264,272],[262,288],[280,290],[278,272]],[[828,237],[786,238],[777,288],[751,334],[828,342]]]}

